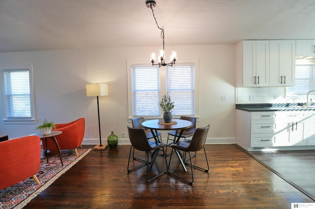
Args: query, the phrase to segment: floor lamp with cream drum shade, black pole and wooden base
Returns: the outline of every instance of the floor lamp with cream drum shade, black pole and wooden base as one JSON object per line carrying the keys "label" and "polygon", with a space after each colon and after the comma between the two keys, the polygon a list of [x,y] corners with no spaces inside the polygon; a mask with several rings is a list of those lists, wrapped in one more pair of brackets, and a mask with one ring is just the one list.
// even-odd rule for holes
{"label": "floor lamp with cream drum shade, black pole and wooden base", "polygon": [[102,83],[87,84],[86,89],[87,89],[87,97],[96,97],[97,98],[99,144],[96,145],[93,149],[94,150],[104,150],[107,147],[107,144],[102,145],[102,138],[100,136],[98,97],[108,95],[107,84],[102,84]]}

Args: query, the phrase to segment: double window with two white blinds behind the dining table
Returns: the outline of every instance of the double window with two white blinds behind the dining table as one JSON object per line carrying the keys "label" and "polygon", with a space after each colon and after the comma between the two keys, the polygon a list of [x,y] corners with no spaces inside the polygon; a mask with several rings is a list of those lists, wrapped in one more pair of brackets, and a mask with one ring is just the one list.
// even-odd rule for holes
{"label": "double window with two white blinds behind the dining table", "polygon": [[129,118],[161,118],[159,102],[169,95],[173,116],[198,115],[197,73],[194,63],[166,67],[131,64],[128,69]]}

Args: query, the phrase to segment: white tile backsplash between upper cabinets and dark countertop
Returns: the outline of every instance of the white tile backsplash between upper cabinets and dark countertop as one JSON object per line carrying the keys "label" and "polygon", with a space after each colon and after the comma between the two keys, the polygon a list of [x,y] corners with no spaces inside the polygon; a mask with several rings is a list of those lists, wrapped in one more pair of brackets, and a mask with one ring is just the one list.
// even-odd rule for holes
{"label": "white tile backsplash between upper cabinets and dark countertop", "polygon": [[306,95],[286,95],[286,87],[235,88],[235,104],[305,102]]}

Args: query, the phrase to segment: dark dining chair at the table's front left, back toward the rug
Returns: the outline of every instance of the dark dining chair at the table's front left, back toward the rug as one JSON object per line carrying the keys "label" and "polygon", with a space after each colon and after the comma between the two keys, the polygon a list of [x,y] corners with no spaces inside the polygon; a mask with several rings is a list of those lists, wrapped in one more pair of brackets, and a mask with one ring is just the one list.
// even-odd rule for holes
{"label": "dark dining chair at the table's front left, back toward the rug", "polygon": [[[130,173],[134,170],[137,170],[138,168],[141,168],[141,167],[146,165],[147,166],[147,169],[146,169],[147,170],[146,171],[147,183],[150,183],[152,180],[155,180],[159,176],[167,173],[167,161],[166,161],[166,155],[165,155],[165,151],[164,151],[164,147],[166,145],[163,143],[160,143],[160,142],[148,140],[146,132],[142,128],[131,128],[129,126],[127,126],[127,128],[128,128],[129,139],[130,139],[130,142],[132,145],[130,147],[130,153],[129,153],[129,159],[128,159],[128,165],[127,165],[128,173]],[[132,147],[138,151],[145,152],[146,153],[146,160],[145,161],[143,160],[143,163],[141,163],[140,165],[129,169]],[[165,160],[166,169],[164,171],[162,171],[161,173],[159,173],[158,175],[154,176],[153,178],[148,179],[148,172],[151,170],[151,168],[152,168],[152,166],[156,160],[156,157],[158,156],[158,152],[160,149],[162,149],[162,151],[163,151],[163,158]],[[149,156],[150,156],[151,160],[149,159]]]}

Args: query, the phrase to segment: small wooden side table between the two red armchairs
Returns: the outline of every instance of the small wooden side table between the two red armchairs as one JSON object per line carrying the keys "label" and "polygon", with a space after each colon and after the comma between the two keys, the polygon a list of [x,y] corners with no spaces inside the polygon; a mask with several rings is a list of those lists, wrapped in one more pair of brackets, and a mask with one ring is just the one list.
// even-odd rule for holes
{"label": "small wooden side table between the two red armchairs", "polygon": [[[63,131],[51,131],[50,134],[46,134],[46,135],[44,135],[44,134],[42,134],[42,133],[33,133],[33,134],[31,134],[31,135],[39,136],[39,137],[40,137],[40,140],[45,139],[45,141],[46,141],[46,148],[43,147],[43,151],[42,151],[41,154],[40,154],[40,158],[41,158],[41,159],[46,159],[46,158],[47,158],[47,161],[48,161],[48,158],[49,158],[49,157],[53,157],[53,156],[59,154],[60,160],[61,160],[61,164],[63,165],[63,157],[62,157],[62,155],[61,155],[58,142],[57,142],[57,140],[56,140],[56,138],[55,138],[55,136],[60,135],[62,132],[63,132]],[[47,151],[48,151],[48,150],[47,150],[47,138],[50,138],[50,139],[53,140],[53,142],[55,143],[55,145],[56,145],[56,147],[57,147],[58,153],[57,153],[57,152],[54,152],[54,151],[52,151],[52,152],[47,152]]]}

